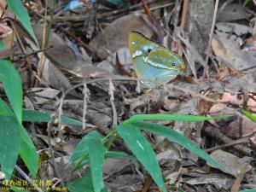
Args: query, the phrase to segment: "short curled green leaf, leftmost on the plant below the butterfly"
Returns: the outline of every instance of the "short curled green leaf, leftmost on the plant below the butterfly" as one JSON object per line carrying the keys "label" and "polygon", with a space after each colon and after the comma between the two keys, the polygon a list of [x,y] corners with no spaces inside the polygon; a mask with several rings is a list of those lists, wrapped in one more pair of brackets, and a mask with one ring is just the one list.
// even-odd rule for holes
{"label": "short curled green leaf, leftmost on the plant below the butterfly", "polygon": [[88,154],[88,145],[89,145],[89,139],[92,137],[99,137],[99,133],[97,131],[91,131],[86,136],[82,138],[82,140],[79,142],[79,144],[74,149],[74,152],[68,162],[68,166],[74,164],[77,160],[82,158],[85,154]]}

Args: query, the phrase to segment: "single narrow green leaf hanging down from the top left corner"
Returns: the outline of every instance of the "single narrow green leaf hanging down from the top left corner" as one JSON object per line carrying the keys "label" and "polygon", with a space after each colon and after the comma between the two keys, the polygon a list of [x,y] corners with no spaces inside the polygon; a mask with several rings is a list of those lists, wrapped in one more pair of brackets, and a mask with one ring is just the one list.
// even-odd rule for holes
{"label": "single narrow green leaf hanging down from the top left corner", "polygon": [[35,33],[32,29],[30,17],[27,14],[27,11],[24,8],[23,4],[20,2],[20,0],[6,0],[5,2],[8,4],[9,9],[14,12],[18,20],[20,20],[21,24],[26,28],[26,31],[29,32],[29,34],[32,36],[32,38],[39,47],[38,39],[36,38]]}

